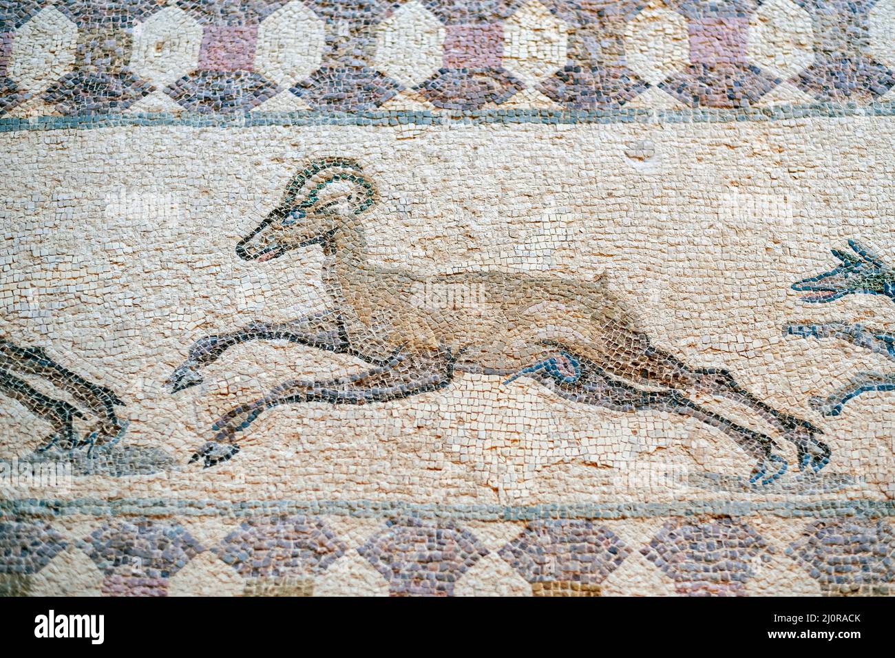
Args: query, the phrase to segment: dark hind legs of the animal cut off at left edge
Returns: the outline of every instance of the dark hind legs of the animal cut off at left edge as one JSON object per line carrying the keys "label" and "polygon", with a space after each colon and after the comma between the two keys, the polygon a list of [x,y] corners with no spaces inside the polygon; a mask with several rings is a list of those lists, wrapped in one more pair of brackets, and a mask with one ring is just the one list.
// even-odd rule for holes
{"label": "dark hind legs of the animal cut off at left edge", "polygon": [[[21,377],[47,381],[64,390],[81,406],[48,396]],[[63,450],[83,448],[90,455],[95,447],[114,445],[127,429],[127,421],[115,414],[115,406],[123,406],[124,402],[112,389],[56,363],[42,347],[22,347],[0,339],[0,395],[16,400],[52,425],[52,431],[36,452],[46,452],[54,447]],[[88,423],[83,437],[75,425],[78,419]]]}

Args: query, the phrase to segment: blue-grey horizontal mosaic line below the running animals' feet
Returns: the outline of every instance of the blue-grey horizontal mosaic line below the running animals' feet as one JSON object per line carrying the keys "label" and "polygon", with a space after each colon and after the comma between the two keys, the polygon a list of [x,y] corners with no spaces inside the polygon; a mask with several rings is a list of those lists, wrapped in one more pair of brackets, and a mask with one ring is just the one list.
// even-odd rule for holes
{"label": "blue-grey horizontal mosaic line below the running animals' feet", "polygon": [[895,517],[895,500],[731,501],[682,500],[672,503],[555,503],[541,505],[439,505],[373,500],[165,500],[74,499],[0,500],[0,517],[60,517],[84,514],[119,516],[249,517],[276,514],[345,517],[456,518],[481,521],[532,521],[544,518],[657,517]]}

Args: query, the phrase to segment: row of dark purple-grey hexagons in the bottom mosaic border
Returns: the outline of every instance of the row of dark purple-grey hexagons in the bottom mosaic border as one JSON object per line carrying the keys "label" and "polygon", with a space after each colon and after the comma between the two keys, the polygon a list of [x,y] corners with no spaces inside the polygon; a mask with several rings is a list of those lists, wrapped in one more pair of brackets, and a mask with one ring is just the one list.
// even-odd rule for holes
{"label": "row of dark purple-grey hexagons in the bottom mosaic border", "polygon": [[[64,587],[54,560],[71,563],[85,556],[89,563],[81,571],[90,583],[78,585],[81,593],[107,596],[176,594],[178,574],[188,570],[194,571],[190,578],[211,578],[217,587],[239,594],[320,594],[328,572],[346,560],[354,560],[354,578],[367,581],[367,589],[392,596],[458,594],[473,569],[478,569],[474,579],[483,583],[480,590],[491,586],[492,594],[513,584],[530,587],[528,594],[536,596],[599,596],[615,572],[633,568],[635,554],[661,571],[657,577],[671,584],[673,593],[687,596],[747,594],[773,559],[794,560],[814,594],[884,595],[895,582],[895,533],[889,521],[872,518],[803,523],[790,542],[756,531],[754,519],[669,518],[645,543],[632,539],[625,526],[613,531],[581,519],[531,521],[505,528],[515,537],[495,542],[477,536],[463,521],[401,516],[379,521],[358,543],[362,534],[349,538],[334,532],[330,525],[338,520],[248,517],[209,542],[200,542],[172,518],[97,519],[84,536],[59,532],[59,520],[4,521],[0,594]],[[483,568],[486,559],[489,567]],[[359,568],[357,560],[371,569]],[[638,568],[643,565],[640,560]]]}

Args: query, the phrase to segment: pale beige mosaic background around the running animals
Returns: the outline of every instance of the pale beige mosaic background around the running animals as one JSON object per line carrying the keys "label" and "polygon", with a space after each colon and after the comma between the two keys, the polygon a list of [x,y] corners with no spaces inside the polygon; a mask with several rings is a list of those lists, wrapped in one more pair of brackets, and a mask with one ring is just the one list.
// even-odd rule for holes
{"label": "pale beige mosaic background around the running animals", "polygon": [[[832,457],[820,476],[841,483],[834,497],[885,500],[895,397],[866,393],[837,418],[821,418],[808,400],[858,370],[886,372],[886,360],[831,339],[784,338],[780,328],[846,319],[893,329],[880,296],[812,305],[789,289],[830,269],[830,248],[848,238],[895,259],[891,125],[850,117],[7,132],[0,142],[15,175],[0,180],[2,330],[114,389],[130,420],[123,441],[164,449],[178,465],[75,478],[71,498],[791,499],[780,487],[731,493],[688,483],[690,474],[747,476],[753,466],[695,422],[575,405],[526,380],[472,375],[380,405],[278,407],[245,432],[233,461],[186,466],[235,404],[295,376],[359,369],[350,357],[253,343],[210,366],[200,387],[174,396],[162,388],[193,340],[322,308],[319,250],[259,263],[240,261],[234,245],[307,161],[357,158],[381,196],[365,214],[375,261],[427,273],[605,271],[655,344],[727,367],[772,406],[822,427]],[[47,433],[12,402],[0,423],[4,458]],[[788,449],[784,482],[797,477]]]}

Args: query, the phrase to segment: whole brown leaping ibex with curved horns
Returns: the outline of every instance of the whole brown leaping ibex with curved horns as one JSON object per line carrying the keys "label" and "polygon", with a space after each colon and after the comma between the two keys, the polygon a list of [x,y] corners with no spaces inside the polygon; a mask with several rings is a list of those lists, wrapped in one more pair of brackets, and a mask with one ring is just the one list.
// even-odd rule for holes
{"label": "whole brown leaping ibex with curved horns", "polygon": [[[200,368],[251,340],[288,340],[350,354],[370,370],[328,380],[288,380],[250,404],[235,406],[192,455],[214,466],[238,451],[235,438],[264,411],[283,404],[328,401],[367,404],[446,387],[463,372],[529,377],[567,400],[619,411],[658,409],[695,418],[732,438],[756,459],[750,482],[770,483],[787,470],[767,434],[697,405],[681,389],[726,397],[754,411],[797,448],[799,467],[820,470],[831,450],[811,423],[780,412],[739,386],[720,368],[693,368],[661,351],[635,327],[632,313],[592,280],[511,272],[423,276],[372,265],[363,213],[378,195],[349,158],[312,161],[286,187],[277,207],[236,244],[245,261],[264,262],[319,245],[332,306],[282,323],[255,321],[231,333],[200,338],[166,381],[177,392],[202,380]],[[421,286],[479,286],[482,303],[463,308],[414,304]],[[462,296],[462,295],[459,295]]]}

